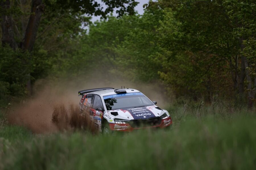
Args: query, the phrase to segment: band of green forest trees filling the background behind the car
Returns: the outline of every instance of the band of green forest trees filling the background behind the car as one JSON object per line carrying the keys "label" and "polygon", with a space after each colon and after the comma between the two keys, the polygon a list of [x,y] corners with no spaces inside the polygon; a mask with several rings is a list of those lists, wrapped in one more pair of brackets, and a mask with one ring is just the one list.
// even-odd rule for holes
{"label": "band of green forest trees filling the background behind the car", "polygon": [[[211,102],[218,95],[253,107],[255,1],[150,1],[143,15],[134,12],[133,0],[104,2],[106,9],[90,0],[1,1],[1,99],[30,94],[28,80],[33,86],[49,75],[96,73],[158,82],[176,98]],[[41,14],[33,12],[33,3]],[[114,8],[119,17],[108,15]],[[85,14],[102,20],[90,23]],[[29,31],[37,15],[37,31]],[[24,48],[30,33],[34,43],[31,38]]]}

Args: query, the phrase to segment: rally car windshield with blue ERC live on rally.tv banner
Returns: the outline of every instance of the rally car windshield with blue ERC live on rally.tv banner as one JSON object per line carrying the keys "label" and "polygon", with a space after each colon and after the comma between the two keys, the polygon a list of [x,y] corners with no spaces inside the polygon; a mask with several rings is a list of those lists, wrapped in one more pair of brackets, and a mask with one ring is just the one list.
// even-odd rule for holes
{"label": "rally car windshield with blue ERC live on rally.tv banner", "polygon": [[153,105],[141,92],[106,95],[103,99],[108,111]]}

